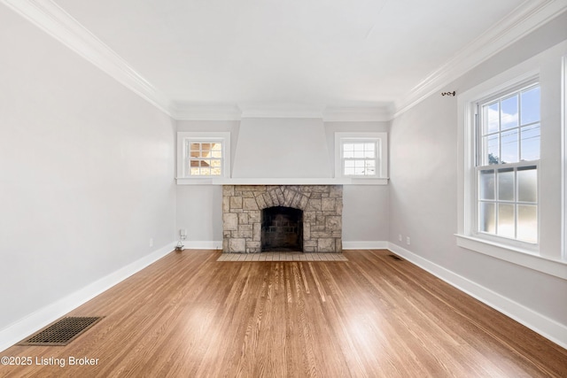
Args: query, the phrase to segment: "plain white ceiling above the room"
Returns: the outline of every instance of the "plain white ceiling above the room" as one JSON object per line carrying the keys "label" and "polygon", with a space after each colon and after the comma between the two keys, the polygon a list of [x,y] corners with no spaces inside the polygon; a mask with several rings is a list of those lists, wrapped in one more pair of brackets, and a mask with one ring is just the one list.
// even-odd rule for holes
{"label": "plain white ceiling above the room", "polygon": [[509,30],[519,15],[525,18],[550,2],[43,3],[58,5],[177,108],[293,104],[324,109],[400,108],[412,91],[463,52],[485,48],[487,35],[494,39],[503,32],[499,25]]}

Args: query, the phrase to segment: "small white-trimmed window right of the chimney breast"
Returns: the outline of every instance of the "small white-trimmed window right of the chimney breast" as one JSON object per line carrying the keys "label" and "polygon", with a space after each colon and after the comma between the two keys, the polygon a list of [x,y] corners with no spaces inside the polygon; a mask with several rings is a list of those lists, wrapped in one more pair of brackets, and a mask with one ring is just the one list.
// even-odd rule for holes
{"label": "small white-trimmed window right of the chimney breast", "polygon": [[336,133],[335,175],[354,179],[386,179],[386,133]]}

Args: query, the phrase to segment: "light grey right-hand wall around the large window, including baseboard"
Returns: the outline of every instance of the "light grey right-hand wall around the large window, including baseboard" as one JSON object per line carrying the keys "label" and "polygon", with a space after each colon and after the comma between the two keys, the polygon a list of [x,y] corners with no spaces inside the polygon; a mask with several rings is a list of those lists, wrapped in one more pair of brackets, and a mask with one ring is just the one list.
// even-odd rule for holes
{"label": "light grey right-hand wall around the large window, including baseboard", "polygon": [[[563,14],[445,88],[462,93],[567,39],[566,16]],[[560,57],[556,58],[551,69],[556,70],[558,80],[561,65]],[[558,105],[557,96],[560,96],[558,90],[553,99]],[[477,294],[481,293],[478,297],[492,297],[486,300],[492,301],[491,305],[508,309],[510,316],[565,343],[567,281],[456,245],[457,169],[462,169],[457,166],[458,124],[456,99],[439,94],[428,97],[392,121],[389,240],[401,252],[408,252],[408,257],[441,274],[447,269],[447,276],[453,275],[461,282],[469,282],[470,288],[478,289]],[[550,128],[542,133],[552,136],[542,136],[541,142],[542,150],[546,150],[542,153],[542,182],[547,177],[546,182],[550,183],[550,187],[543,189],[541,204],[542,228],[549,225],[542,230],[542,235],[548,236],[542,243],[546,250],[542,251],[544,255],[550,253],[549,248],[559,248],[561,224],[558,117],[547,125]],[[553,175],[556,180],[551,179]],[[402,235],[403,243],[399,242],[398,235]],[[411,238],[410,245],[405,243],[407,236]],[[559,256],[559,251],[555,250],[551,253]],[[550,335],[546,331],[549,329],[561,335]]]}

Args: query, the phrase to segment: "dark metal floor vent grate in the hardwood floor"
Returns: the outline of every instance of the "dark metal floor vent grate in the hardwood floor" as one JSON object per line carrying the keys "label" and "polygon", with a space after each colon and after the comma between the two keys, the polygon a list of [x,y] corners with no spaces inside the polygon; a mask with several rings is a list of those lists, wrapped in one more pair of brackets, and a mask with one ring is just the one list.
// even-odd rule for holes
{"label": "dark metal floor vent grate in the hardwood floor", "polygon": [[103,317],[67,317],[34,336],[18,343],[18,345],[66,345],[94,326]]}

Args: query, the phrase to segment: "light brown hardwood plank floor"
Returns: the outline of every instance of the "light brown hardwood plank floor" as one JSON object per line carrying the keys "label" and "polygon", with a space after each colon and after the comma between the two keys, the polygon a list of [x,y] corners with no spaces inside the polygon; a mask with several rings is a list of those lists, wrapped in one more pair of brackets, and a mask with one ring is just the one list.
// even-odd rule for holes
{"label": "light brown hardwood plank floor", "polygon": [[105,316],[72,343],[0,353],[32,359],[0,376],[567,376],[566,350],[389,251],[219,253],[172,252],[70,312]]}

